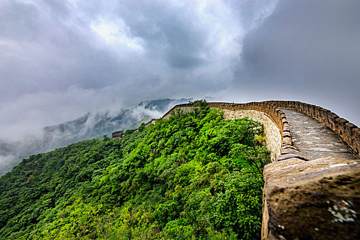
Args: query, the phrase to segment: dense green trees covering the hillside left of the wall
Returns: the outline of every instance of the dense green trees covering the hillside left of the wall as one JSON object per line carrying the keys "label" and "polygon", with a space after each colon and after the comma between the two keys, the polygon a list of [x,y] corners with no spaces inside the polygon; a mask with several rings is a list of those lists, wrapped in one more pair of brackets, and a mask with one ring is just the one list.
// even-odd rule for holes
{"label": "dense green trees covering the hillside left of the wall", "polygon": [[0,178],[0,239],[259,239],[261,124],[195,104],[23,160]]}

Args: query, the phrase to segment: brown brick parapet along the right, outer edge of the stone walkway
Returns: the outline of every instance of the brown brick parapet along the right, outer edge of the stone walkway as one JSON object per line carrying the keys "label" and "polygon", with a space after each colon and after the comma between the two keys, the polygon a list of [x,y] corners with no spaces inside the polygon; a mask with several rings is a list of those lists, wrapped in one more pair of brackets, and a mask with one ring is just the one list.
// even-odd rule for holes
{"label": "brown brick parapet along the right, outer edge of the stone walkway", "polygon": [[278,108],[294,109],[313,117],[328,128],[333,130],[340,138],[352,149],[354,154],[360,158],[360,128],[350,123],[346,119],[337,116],[334,112],[315,106],[305,104],[301,101],[265,101],[268,104],[274,104]]}

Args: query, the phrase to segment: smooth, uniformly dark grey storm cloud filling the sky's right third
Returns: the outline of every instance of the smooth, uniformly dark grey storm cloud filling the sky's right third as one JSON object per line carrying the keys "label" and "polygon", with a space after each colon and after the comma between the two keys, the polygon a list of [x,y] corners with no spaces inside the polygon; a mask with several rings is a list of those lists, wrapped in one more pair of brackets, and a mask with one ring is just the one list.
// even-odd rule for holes
{"label": "smooth, uniformly dark grey storm cloud filling the sky's right third", "polygon": [[280,1],[244,38],[238,86],[324,106],[360,125],[359,11],[359,1]]}

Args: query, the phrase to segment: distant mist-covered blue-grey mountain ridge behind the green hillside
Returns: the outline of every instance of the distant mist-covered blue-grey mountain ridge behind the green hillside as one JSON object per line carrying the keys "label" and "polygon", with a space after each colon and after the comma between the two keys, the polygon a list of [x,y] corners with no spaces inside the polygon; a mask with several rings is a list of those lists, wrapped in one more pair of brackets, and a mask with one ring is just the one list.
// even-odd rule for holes
{"label": "distant mist-covered blue-grey mountain ridge behind the green hillside", "polygon": [[112,132],[139,127],[141,123],[164,115],[176,104],[192,99],[158,99],[141,101],[130,109],[113,112],[88,112],[72,121],[43,128],[43,137],[27,137],[23,141],[0,140],[0,176],[30,155],[49,152],[53,149],[86,139],[111,136]]}

